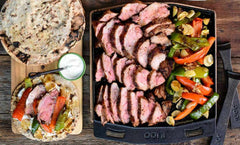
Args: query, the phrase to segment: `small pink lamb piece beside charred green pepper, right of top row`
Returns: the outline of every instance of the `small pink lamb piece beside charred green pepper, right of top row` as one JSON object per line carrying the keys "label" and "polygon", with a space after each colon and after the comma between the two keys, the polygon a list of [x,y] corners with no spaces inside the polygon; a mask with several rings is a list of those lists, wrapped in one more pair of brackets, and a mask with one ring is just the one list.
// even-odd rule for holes
{"label": "small pink lamb piece beside charred green pepper, right of top row", "polygon": [[168,37],[164,33],[154,35],[150,39],[151,39],[151,43],[154,43],[154,44],[161,44],[162,46],[171,45],[171,41],[168,39]]}

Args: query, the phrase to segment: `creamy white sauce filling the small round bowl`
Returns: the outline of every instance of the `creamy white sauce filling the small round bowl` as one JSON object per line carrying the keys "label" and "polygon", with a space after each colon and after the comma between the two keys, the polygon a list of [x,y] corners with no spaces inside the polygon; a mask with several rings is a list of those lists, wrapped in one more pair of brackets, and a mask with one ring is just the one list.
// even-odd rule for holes
{"label": "creamy white sauce filling the small round bowl", "polygon": [[77,79],[83,73],[84,65],[83,60],[76,54],[72,53],[64,55],[59,62],[59,67],[65,68],[60,71],[61,74],[66,79],[70,80]]}

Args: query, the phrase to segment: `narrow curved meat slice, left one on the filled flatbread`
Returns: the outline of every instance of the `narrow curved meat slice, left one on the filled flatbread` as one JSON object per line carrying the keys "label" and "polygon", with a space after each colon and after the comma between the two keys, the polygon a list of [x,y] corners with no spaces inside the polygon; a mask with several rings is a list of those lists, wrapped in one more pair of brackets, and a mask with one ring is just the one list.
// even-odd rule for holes
{"label": "narrow curved meat slice, left one on the filled flatbread", "polygon": [[43,94],[46,93],[44,85],[37,85],[28,95],[26,100],[25,114],[32,115],[34,114],[33,102],[35,99],[40,98]]}

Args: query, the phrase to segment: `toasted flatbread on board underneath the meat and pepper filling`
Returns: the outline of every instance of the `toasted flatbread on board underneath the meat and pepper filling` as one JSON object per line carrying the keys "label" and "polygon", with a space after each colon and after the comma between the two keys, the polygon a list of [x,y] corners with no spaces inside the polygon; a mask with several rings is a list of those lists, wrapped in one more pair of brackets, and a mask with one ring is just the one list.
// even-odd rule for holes
{"label": "toasted flatbread on board underneath the meat and pepper filling", "polygon": [[[51,79],[49,79],[51,78]],[[53,132],[48,133],[45,132],[41,127],[37,130],[40,132],[40,136],[35,136],[31,133],[31,125],[28,126],[28,129],[24,129],[21,125],[21,122],[17,119],[12,118],[12,127],[18,130],[19,133],[26,136],[29,139],[43,141],[43,142],[49,142],[49,141],[57,141],[66,138],[67,134],[71,133],[75,126],[78,124],[79,120],[79,113],[80,113],[80,106],[79,106],[79,99],[78,94],[76,91],[76,87],[74,84],[68,80],[63,79],[58,74],[48,74],[48,75],[42,75],[38,78],[35,78],[33,80],[33,85],[40,84],[40,83],[49,83],[49,82],[55,82],[60,86],[61,95],[64,94],[64,97],[66,97],[66,108],[70,109],[70,119],[72,122],[69,124],[69,126],[60,132]],[[21,89],[24,88],[24,82],[20,83],[16,89],[13,91],[12,99],[11,99],[11,114],[13,113],[14,109],[16,108],[16,105],[19,101],[18,93],[21,91]],[[23,119],[24,120],[24,119]],[[22,120],[22,121],[23,121]],[[30,119],[31,120],[31,119]],[[31,121],[30,121],[31,122]]]}

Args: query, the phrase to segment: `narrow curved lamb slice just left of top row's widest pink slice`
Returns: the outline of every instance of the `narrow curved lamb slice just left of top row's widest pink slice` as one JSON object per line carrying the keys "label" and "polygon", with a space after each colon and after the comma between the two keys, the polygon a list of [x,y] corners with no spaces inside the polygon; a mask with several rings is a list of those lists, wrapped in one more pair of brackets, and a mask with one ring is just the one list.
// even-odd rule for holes
{"label": "narrow curved lamb slice just left of top row's widest pink slice", "polygon": [[123,30],[124,30],[124,25],[115,24],[110,34],[111,44],[112,46],[114,46],[113,49],[121,56],[124,56],[122,51],[122,44],[120,41],[120,36],[123,33]]}

